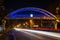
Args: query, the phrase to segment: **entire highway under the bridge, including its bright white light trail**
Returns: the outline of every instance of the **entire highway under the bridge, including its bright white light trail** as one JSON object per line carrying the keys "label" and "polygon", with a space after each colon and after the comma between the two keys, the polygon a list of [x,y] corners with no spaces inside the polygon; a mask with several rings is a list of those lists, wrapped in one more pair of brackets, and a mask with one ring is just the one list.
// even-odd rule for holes
{"label": "entire highway under the bridge, including its bright white light trail", "polygon": [[[11,40],[60,40],[60,33],[14,28]],[[9,37],[8,37],[9,40]]]}

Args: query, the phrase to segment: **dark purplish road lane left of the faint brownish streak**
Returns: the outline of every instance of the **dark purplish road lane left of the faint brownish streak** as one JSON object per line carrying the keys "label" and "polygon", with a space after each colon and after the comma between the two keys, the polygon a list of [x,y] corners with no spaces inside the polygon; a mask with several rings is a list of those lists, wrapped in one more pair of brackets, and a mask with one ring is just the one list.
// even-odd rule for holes
{"label": "dark purplish road lane left of the faint brownish streak", "polygon": [[28,35],[28,34],[26,34],[24,32],[21,32],[21,31],[16,31],[15,30],[11,34],[14,34],[14,39],[16,39],[16,40],[40,40],[40,39],[38,39],[36,37],[33,37],[33,36]]}

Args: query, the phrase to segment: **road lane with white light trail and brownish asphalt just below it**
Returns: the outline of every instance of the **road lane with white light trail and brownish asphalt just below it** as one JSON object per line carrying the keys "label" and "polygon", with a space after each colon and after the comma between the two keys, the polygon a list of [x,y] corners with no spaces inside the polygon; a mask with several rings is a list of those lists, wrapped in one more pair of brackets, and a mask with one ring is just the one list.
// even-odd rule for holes
{"label": "road lane with white light trail and brownish asphalt just below it", "polygon": [[29,30],[29,29],[15,29],[15,30],[22,31],[25,34],[28,34],[30,36],[35,36],[35,37],[37,37],[38,39],[41,39],[41,40],[45,40],[45,39],[46,40],[60,40],[60,36],[59,36],[60,33],[36,31],[36,30]]}

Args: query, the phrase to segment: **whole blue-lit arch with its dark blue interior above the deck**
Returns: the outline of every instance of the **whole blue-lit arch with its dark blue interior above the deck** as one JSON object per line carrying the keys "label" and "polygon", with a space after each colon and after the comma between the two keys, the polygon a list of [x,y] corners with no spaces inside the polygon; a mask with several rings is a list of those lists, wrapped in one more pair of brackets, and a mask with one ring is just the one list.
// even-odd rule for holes
{"label": "whole blue-lit arch with its dark blue interior above the deck", "polygon": [[16,18],[30,18],[30,14],[33,14],[33,17],[52,17],[55,18],[51,13],[44,11],[43,9],[39,8],[22,8],[16,11],[11,12],[6,18],[16,19]]}

